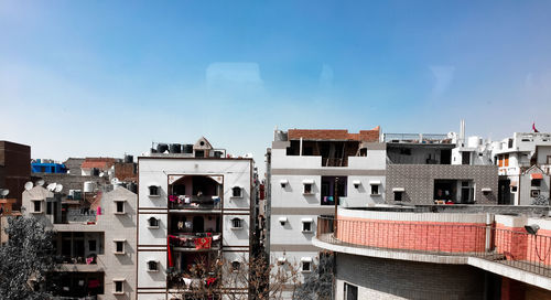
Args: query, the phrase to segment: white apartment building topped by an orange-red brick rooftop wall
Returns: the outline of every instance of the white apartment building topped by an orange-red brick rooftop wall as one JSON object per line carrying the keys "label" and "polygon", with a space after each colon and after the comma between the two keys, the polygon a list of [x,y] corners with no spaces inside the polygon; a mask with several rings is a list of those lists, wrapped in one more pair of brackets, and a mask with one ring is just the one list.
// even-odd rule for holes
{"label": "white apartment building topped by an orange-red brick rooftop wall", "polygon": [[320,215],[385,202],[386,147],[379,127],[274,132],[268,160],[271,193],[269,251],[272,261],[298,266],[305,276],[320,249],[312,245]]}

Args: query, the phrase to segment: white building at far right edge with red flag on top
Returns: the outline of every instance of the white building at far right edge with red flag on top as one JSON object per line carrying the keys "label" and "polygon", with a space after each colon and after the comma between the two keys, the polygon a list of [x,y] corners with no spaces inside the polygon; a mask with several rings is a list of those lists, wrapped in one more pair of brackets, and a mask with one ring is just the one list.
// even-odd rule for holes
{"label": "white building at far right edge with red flag on top", "polygon": [[530,205],[540,195],[549,199],[551,133],[515,132],[491,147],[505,204]]}

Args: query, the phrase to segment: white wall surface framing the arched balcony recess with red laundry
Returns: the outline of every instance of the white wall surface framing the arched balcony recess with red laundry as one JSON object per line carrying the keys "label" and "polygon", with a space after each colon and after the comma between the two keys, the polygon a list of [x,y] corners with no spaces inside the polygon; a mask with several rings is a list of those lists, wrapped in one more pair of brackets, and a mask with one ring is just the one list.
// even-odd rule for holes
{"label": "white wall surface framing the arched balcony recess with red laundry", "polygon": [[[185,231],[175,223],[185,223],[185,228],[188,224],[193,226],[193,229],[188,228],[188,235],[210,233],[213,246],[207,250],[195,250],[193,247],[181,249],[171,244],[171,257],[176,261],[173,260],[174,269],[185,272],[186,265],[182,261],[199,253],[209,259],[222,254],[226,261],[248,256],[252,229],[252,159],[193,158],[183,154],[152,154],[138,159],[138,299],[172,299],[182,292],[168,280],[169,235],[181,236]],[[177,190],[177,184],[185,188]],[[150,186],[159,188],[158,195],[150,195]],[[234,189],[241,194],[236,196]],[[170,203],[169,196],[173,195],[185,196],[185,201],[193,197],[217,200],[210,206],[193,206],[185,204],[187,202],[177,206],[180,204]],[[150,226],[151,217],[158,219],[158,226]],[[234,227],[235,218],[241,219],[238,228]],[[216,237],[220,239],[219,249],[214,246]],[[148,261],[158,261],[158,270],[149,270]]]}

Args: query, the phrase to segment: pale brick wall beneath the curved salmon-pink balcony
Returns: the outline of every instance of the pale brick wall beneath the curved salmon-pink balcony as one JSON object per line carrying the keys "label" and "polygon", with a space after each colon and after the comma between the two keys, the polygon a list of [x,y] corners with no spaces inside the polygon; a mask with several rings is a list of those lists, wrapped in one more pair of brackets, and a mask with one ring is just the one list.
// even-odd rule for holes
{"label": "pale brick wall beneath the curved salmon-pink balcony", "polygon": [[336,254],[336,297],[345,282],[358,287],[358,299],[484,299],[484,271],[440,265]]}

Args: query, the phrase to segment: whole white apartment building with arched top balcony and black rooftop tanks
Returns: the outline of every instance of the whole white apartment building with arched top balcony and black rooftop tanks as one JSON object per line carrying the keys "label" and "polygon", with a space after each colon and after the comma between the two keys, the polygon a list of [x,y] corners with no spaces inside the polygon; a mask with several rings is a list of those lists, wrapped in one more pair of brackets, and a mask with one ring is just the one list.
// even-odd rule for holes
{"label": "whole white apartment building with arched top balcony and black rooftop tanks", "polygon": [[[160,143],[138,158],[138,169],[137,299],[187,299],[194,285],[226,282],[192,270],[220,259],[239,268],[248,258],[253,160],[230,158],[201,138],[195,144]],[[247,293],[244,286],[219,288]]]}

